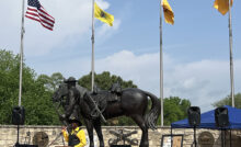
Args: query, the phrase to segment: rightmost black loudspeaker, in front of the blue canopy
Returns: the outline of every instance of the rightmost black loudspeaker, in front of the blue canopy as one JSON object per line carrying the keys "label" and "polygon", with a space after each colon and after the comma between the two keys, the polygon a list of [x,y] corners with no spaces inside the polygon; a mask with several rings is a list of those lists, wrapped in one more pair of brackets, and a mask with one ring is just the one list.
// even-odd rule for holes
{"label": "rightmost black loudspeaker, in front of the blue canopy", "polygon": [[217,108],[215,110],[215,123],[217,127],[229,125],[229,113],[227,108]]}

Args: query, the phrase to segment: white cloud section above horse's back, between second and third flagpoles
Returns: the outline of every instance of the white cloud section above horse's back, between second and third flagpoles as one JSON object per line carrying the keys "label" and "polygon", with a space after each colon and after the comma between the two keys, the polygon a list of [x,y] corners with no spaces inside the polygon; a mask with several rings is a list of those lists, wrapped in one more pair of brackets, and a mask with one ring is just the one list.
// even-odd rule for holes
{"label": "white cloud section above horse's back, between second and third flagpoles", "polygon": [[[96,71],[111,71],[126,80],[134,80],[140,88],[157,92],[159,80],[159,54],[136,56],[131,52],[123,50],[96,61]],[[148,77],[147,77],[148,76]]]}

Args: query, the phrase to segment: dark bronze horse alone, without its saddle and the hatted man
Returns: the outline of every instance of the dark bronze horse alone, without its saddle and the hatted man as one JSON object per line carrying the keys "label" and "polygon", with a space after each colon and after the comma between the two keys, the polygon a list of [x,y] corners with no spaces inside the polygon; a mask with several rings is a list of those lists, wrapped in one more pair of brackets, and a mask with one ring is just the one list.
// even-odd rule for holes
{"label": "dark bronze horse alone, without its saddle and the hatted man", "polygon": [[[99,116],[92,118],[90,116],[91,108],[87,99],[84,99],[87,94],[83,93],[83,91],[87,92],[88,90],[83,87],[80,87],[79,84],[77,84],[76,88],[68,89],[66,83],[61,83],[59,88],[55,91],[53,100],[54,102],[60,102],[64,97],[74,98],[77,100],[74,103],[79,106],[79,113],[82,115],[87,126],[90,139],[90,147],[94,147],[93,128],[97,134],[100,147],[104,147],[104,140],[101,129],[101,117]],[[93,94],[90,91],[88,92],[95,101],[97,101],[96,99],[99,97],[99,93]],[[101,94],[104,94],[105,92],[106,94],[108,94],[110,91],[100,91]],[[149,112],[147,112],[148,97],[152,102]],[[62,106],[65,106],[65,104]],[[102,111],[102,114],[106,120],[122,115],[131,117],[142,131],[139,147],[149,147],[148,128],[156,128],[156,124],[160,115],[160,100],[156,95],[137,88],[127,88],[122,90],[118,101],[107,102],[106,106]]]}

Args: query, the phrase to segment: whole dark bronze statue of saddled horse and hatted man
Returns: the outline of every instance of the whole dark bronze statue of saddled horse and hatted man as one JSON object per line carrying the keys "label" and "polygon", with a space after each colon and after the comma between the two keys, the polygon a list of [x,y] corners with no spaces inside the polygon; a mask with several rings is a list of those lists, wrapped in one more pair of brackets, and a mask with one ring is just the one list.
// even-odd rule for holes
{"label": "whole dark bronze statue of saddled horse and hatted man", "polygon": [[[76,105],[79,106],[79,114],[83,116],[88,129],[90,147],[94,147],[93,128],[96,131],[100,147],[104,147],[101,120],[104,121],[105,118],[122,115],[131,117],[141,128],[142,135],[139,146],[149,147],[148,128],[156,128],[161,110],[160,100],[150,92],[136,88],[127,88],[118,91],[117,100],[115,100],[115,92],[113,93],[107,90],[100,90],[92,93],[79,84],[68,89],[67,83],[61,83],[55,91],[53,100],[54,102],[60,102],[66,110],[64,115],[59,114],[62,121],[67,120],[71,113],[74,112]],[[62,103],[65,97],[73,99],[74,104],[67,105],[66,103]],[[151,99],[152,106],[146,114],[148,97]],[[91,102],[91,100],[94,102]]]}

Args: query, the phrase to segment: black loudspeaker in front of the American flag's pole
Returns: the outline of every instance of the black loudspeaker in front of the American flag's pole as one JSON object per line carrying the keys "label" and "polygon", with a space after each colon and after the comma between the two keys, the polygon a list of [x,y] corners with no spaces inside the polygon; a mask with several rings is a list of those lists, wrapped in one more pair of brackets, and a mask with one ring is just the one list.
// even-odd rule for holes
{"label": "black loudspeaker in front of the American flag's pole", "polygon": [[23,106],[14,106],[12,110],[12,124],[23,125],[25,120],[25,110]]}

